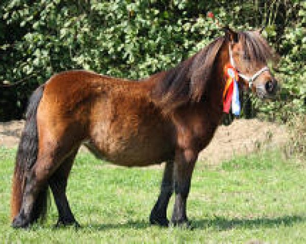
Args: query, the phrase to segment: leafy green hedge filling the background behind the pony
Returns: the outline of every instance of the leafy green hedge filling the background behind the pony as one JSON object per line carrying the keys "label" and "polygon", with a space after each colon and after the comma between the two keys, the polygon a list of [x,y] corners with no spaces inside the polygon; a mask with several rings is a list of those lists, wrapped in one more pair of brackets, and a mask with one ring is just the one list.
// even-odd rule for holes
{"label": "leafy green hedge filling the background behind the pony", "polygon": [[304,111],[305,2],[4,0],[0,81],[24,82],[0,88],[0,118],[20,117],[32,90],[63,70],[139,79],[175,66],[223,35],[208,11],[236,29],[266,24],[264,35],[282,55],[281,99],[257,102],[256,110],[282,119],[288,110]]}

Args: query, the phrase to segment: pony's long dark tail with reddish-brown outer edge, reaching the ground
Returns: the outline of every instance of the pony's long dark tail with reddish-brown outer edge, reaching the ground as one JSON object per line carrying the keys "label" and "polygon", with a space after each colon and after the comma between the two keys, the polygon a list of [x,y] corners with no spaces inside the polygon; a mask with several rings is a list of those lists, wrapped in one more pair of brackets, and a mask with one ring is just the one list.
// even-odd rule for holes
{"label": "pony's long dark tail with reddish-brown outer edge, reaching the ground", "polygon": [[[42,98],[44,85],[39,86],[32,94],[26,114],[25,126],[18,145],[13,189],[11,199],[11,217],[15,218],[20,210],[25,184],[25,172],[36,163],[38,155],[37,108]],[[33,207],[31,222],[40,217],[44,219],[47,210],[48,187],[44,187],[38,194]]]}

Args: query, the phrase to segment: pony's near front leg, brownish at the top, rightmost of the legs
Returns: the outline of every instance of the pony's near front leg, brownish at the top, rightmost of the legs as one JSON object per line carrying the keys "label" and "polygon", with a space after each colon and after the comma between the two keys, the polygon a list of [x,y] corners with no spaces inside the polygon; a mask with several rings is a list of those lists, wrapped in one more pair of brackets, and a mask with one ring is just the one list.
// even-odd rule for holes
{"label": "pony's near front leg, brownish at the top, rightmost of the legs", "polygon": [[190,190],[191,176],[197,159],[197,153],[191,149],[177,149],[174,162],[175,202],[171,222],[173,225],[189,227],[186,214],[187,197]]}

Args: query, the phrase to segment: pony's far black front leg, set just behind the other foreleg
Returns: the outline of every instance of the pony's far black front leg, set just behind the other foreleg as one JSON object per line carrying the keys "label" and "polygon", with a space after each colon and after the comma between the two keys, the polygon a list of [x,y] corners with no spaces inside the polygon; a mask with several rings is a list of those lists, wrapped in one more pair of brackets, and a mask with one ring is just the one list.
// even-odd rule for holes
{"label": "pony's far black front leg, set just behind the other foreleg", "polygon": [[169,161],[165,165],[160,195],[150,214],[150,224],[160,226],[169,225],[169,221],[167,220],[167,207],[172,193],[173,161]]}

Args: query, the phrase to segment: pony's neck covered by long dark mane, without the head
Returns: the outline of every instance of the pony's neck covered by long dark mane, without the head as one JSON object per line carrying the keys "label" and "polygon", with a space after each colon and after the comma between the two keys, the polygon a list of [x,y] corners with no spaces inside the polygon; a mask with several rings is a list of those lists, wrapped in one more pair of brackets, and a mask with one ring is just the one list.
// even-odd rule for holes
{"label": "pony's neck covered by long dark mane, without the head", "polygon": [[202,101],[208,113],[221,116],[223,69],[228,61],[228,42],[216,39],[176,67],[150,76],[151,98],[165,111]]}

